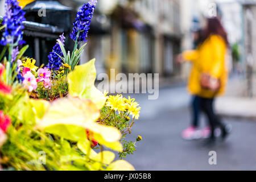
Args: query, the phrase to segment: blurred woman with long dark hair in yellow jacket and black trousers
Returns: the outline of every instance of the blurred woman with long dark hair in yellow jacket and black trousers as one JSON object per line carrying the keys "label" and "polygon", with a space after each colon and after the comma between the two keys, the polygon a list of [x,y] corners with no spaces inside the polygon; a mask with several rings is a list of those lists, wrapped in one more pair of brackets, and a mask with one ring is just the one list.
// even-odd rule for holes
{"label": "blurred woman with long dark hair in yellow jacket and black trousers", "polygon": [[[210,143],[214,142],[214,130],[220,126],[222,139],[228,131],[214,113],[214,98],[225,91],[228,78],[225,55],[229,46],[227,34],[217,18],[208,18],[203,31],[203,43],[199,48],[183,52],[184,60],[192,61],[188,90],[200,98],[201,110],[207,115],[211,127]],[[207,85],[207,86],[205,86]],[[209,85],[209,86],[208,86]]]}

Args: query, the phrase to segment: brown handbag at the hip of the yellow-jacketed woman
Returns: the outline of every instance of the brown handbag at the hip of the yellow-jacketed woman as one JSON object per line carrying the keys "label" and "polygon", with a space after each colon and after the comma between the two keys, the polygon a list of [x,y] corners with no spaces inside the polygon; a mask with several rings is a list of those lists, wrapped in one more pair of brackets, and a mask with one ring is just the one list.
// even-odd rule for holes
{"label": "brown handbag at the hip of the yellow-jacketed woman", "polygon": [[200,75],[200,85],[201,88],[212,90],[213,92],[217,92],[221,87],[220,79],[213,78],[209,73],[201,73]]}

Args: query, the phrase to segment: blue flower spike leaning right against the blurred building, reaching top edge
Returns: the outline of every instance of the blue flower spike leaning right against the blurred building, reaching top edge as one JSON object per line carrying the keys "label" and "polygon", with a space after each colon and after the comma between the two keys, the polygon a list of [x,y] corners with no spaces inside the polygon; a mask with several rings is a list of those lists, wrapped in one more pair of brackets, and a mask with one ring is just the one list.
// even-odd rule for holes
{"label": "blue flower spike leaning right against the blurred building, reaching top edge", "polygon": [[[73,31],[71,34],[71,39],[77,42],[86,42],[88,37],[88,31],[90,29],[90,22],[94,13],[95,5],[97,0],[92,0],[89,3],[84,4],[76,15],[75,22],[73,23]],[[79,38],[77,38],[77,33],[80,32]]]}

